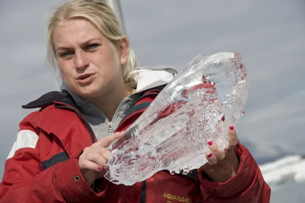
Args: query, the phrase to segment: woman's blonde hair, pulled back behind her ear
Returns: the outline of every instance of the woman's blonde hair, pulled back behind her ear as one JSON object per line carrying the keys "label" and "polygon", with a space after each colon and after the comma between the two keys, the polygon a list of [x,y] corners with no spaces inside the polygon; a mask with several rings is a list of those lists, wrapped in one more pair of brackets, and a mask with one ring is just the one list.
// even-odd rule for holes
{"label": "woman's blonde hair, pulled back behind her ear", "polygon": [[[126,38],[112,9],[101,0],[72,0],[59,5],[51,17],[48,25],[47,60],[56,73],[56,54],[53,44],[55,28],[64,20],[85,19],[96,26],[114,47],[119,48],[120,40]],[[121,67],[124,83],[128,88],[136,87],[136,79],[132,71],[137,65],[137,60],[132,49],[129,48],[128,62]]]}

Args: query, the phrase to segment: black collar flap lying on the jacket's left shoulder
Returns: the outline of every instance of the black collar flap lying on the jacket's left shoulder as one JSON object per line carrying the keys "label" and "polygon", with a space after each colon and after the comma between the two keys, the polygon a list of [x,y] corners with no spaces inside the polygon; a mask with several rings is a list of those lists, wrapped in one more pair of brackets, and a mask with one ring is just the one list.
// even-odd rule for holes
{"label": "black collar flap lying on the jacket's left shoulder", "polygon": [[22,105],[21,107],[23,109],[44,108],[44,107],[47,107],[47,106],[51,105],[53,103],[53,101],[60,101],[64,98],[66,98],[66,97],[71,97],[71,96],[65,90],[60,91],[60,92],[59,91],[51,91],[51,92],[48,92],[48,93],[42,95],[38,99],[36,99],[34,101],[31,101],[27,105]]}

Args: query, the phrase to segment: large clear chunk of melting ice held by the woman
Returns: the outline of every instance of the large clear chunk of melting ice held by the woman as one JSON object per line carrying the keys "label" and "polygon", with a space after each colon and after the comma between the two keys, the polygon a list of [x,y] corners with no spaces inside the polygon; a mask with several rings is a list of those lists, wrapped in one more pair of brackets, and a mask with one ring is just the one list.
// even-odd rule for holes
{"label": "large clear chunk of melting ice held by the woman", "polygon": [[133,185],[161,170],[171,174],[207,162],[207,140],[228,145],[228,125],[243,114],[247,71],[238,53],[194,58],[156,97],[109,150],[105,175],[115,184]]}

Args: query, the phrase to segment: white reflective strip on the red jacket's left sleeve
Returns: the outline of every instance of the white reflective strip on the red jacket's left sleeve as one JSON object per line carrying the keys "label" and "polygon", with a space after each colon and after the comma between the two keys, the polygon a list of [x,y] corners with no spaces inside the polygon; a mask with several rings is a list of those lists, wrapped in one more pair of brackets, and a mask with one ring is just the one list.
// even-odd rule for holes
{"label": "white reflective strip on the red jacket's left sleeve", "polygon": [[38,142],[39,136],[31,131],[31,130],[20,130],[17,134],[17,140],[14,143],[7,160],[9,158],[12,158],[15,154],[15,152],[18,149],[22,148],[35,148]]}

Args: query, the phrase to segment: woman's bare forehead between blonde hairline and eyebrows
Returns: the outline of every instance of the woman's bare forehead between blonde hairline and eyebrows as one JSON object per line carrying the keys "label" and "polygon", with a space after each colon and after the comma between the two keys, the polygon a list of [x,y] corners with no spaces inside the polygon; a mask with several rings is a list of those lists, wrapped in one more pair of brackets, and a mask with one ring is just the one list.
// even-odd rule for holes
{"label": "woman's bare forehead between blonde hairline and eyebrows", "polygon": [[83,19],[66,20],[54,29],[54,46],[82,43],[89,39],[101,38],[99,30],[89,21]]}

